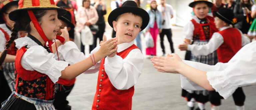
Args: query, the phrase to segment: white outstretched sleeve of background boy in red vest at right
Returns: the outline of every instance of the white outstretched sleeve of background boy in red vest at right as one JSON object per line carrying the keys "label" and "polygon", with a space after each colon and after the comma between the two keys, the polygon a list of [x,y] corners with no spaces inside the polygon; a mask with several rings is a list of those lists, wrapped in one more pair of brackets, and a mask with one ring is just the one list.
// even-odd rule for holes
{"label": "white outstretched sleeve of background boy in red vest at right", "polygon": [[224,39],[222,35],[218,32],[213,33],[212,38],[205,45],[188,45],[188,49],[193,55],[208,55],[215,50],[217,50],[221,44],[223,44]]}

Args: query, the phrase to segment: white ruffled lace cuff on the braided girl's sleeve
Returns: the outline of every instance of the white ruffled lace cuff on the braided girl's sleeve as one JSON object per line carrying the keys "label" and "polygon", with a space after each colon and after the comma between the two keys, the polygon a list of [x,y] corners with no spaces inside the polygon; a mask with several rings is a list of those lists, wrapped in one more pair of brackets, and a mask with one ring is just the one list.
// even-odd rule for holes
{"label": "white ruffled lace cuff on the braided girl's sleeve", "polygon": [[68,62],[65,61],[54,61],[46,72],[52,82],[56,83],[61,76],[61,71],[64,70],[68,66]]}

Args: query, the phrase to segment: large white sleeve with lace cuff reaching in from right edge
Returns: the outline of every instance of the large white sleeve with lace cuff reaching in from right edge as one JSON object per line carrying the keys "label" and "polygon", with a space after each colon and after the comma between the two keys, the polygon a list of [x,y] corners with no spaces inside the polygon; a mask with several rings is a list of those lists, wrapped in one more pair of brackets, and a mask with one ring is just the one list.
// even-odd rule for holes
{"label": "large white sleeve with lace cuff reaching in from right edge", "polygon": [[256,84],[255,47],[254,41],[240,49],[223,70],[207,72],[210,84],[224,99],[238,87]]}

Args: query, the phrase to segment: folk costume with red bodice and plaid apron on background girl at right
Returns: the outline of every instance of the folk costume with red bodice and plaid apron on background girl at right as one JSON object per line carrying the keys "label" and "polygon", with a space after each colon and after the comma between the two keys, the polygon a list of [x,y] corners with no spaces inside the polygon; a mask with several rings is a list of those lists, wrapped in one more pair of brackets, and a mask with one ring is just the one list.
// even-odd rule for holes
{"label": "folk costume with red bodice and plaid apron on background girl at right", "polygon": [[[214,25],[214,19],[211,16],[206,16],[205,19],[198,19],[196,16],[184,27],[184,35],[186,39],[193,40],[192,44],[204,45],[210,40],[212,34],[217,31]],[[191,54],[189,58],[190,61],[201,62],[208,65],[215,65],[218,62],[217,53],[214,51],[208,55],[195,55]],[[182,90],[182,96],[190,101],[192,98],[200,103],[208,102],[207,90],[202,91],[191,91]]]}

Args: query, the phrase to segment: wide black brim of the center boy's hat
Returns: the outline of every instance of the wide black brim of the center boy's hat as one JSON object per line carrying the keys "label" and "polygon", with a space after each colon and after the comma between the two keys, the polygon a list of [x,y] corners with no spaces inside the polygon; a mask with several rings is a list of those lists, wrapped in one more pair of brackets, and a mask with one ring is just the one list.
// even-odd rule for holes
{"label": "wide black brim of the center boy's hat", "polygon": [[122,6],[114,9],[108,16],[108,24],[113,28],[113,21],[116,21],[116,18],[124,13],[133,13],[141,16],[142,18],[142,26],[141,31],[144,30],[149,22],[148,12],[142,8],[133,7],[133,6]]}

